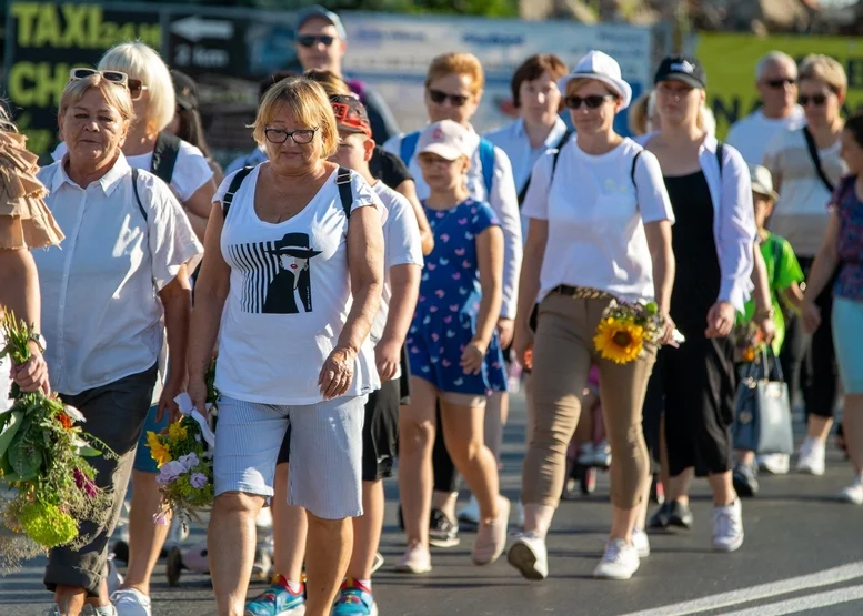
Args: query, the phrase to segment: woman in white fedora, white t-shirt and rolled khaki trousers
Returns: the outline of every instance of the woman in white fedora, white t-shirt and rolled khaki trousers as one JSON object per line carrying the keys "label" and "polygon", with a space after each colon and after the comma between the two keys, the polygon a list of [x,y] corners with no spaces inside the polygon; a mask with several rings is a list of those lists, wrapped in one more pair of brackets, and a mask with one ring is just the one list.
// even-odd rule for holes
{"label": "woman in white fedora, white t-shirt and rolled khaki trousers", "polygon": [[[509,552],[522,575],[548,573],[545,535],[560,501],[566,446],[592,364],[600,370],[605,430],[614,464],[612,527],[594,575],[628,579],[639,568],[633,527],[648,482],[641,407],[656,349],[619,365],[593,344],[612,299],[655,301],[673,331],[673,216],[656,159],[616,134],[615,114],[632,97],[614,59],[591,51],[560,81],[576,139],[536,163],[524,202],[531,219],[519,287],[515,351],[532,363],[532,438],[524,461],[524,533]],[[539,300],[538,329],[530,315]],[[532,350],[532,362],[529,352]]]}

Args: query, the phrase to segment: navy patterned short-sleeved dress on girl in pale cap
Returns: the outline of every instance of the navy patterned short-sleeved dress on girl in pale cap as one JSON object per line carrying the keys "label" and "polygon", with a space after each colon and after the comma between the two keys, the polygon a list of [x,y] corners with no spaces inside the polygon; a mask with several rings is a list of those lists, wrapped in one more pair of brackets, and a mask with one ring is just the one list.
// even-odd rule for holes
{"label": "navy patterned short-sleeved dress on girl in pale cap", "polygon": [[482,292],[475,238],[500,226],[492,209],[468,199],[450,210],[425,209],[434,250],[425,259],[420,299],[405,344],[411,374],[441,392],[489,395],[506,390],[498,333],[480,374],[465,374],[461,355],[476,333]]}

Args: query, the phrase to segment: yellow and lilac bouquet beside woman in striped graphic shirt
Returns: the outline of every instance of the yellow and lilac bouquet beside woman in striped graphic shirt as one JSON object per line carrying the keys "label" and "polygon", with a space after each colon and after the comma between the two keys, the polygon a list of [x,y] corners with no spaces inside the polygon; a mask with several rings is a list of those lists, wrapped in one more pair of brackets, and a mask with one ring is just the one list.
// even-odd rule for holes
{"label": "yellow and lilac bouquet beside woman in striped graphic shirt", "polygon": [[[208,408],[213,414],[218,392],[213,387],[214,363],[207,375]],[[150,455],[159,465],[155,482],[162,495],[155,524],[167,524],[168,515],[178,516],[182,524],[190,519],[201,522],[198,512],[210,507],[213,501],[212,450],[215,436],[185,393],[177,397],[183,418],[171,424],[161,434],[147,433]]]}

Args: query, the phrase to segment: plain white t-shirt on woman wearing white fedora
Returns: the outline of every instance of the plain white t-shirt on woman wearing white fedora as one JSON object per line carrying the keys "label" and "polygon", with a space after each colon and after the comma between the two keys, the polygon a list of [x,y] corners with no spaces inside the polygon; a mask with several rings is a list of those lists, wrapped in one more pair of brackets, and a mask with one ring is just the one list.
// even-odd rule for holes
{"label": "plain white t-shirt on woman wearing white fedora", "polygon": [[[640,151],[633,185],[632,161]],[[629,302],[653,300],[644,223],[674,222],[656,158],[631,139],[601,155],[572,140],[560,151],[550,188],[554,152],[536,162],[522,206],[528,218],[549,222],[539,300],[561,284]]]}

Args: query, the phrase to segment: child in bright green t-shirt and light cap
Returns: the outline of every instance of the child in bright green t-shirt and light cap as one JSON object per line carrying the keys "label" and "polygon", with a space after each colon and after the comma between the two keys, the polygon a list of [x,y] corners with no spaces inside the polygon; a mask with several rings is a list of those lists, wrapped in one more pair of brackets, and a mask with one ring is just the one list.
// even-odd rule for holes
{"label": "child in bright green t-shirt and light cap", "polygon": [[[773,212],[776,202],[776,193],[773,191],[773,178],[766,168],[750,165],[752,180],[752,202],[755,208],[755,224],[759,228],[759,241],[761,254],[767,267],[767,281],[773,302],[773,322],[776,326],[776,335],[771,344],[773,356],[779,357],[782,342],[785,339],[785,319],[782,314],[782,303],[794,312],[800,312],[803,303],[803,292],[800,283],[803,282],[803,270],[797,263],[797,257],[791,244],[784,238],[774,235],[765,229],[765,223]],[[780,302],[780,297],[782,302]],[[745,312],[740,317],[740,323],[749,323],[755,315],[755,302],[746,302]],[[777,457],[782,460],[773,460]],[[787,456],[775,454],[765,456],[767,467],[777,466],[787,472]],[[771,462],[773,464],[771,464]],[[776,472],[776,471],[774,471]],[[734,488],[741,496],[754,496],[759,489],[757,466],[755,465],[755,452],[740,452],[740,462],[733,473]]]}

